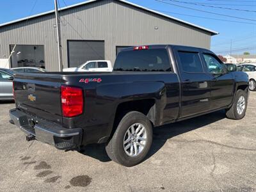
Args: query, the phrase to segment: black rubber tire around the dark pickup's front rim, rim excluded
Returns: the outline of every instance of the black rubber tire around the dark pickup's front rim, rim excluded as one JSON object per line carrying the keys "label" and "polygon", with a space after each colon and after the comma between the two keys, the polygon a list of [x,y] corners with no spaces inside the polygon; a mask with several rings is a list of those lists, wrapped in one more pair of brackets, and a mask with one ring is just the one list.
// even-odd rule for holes
{"label": "black rubber tire around the dark pickup's front rim, rim excluded", "polygon": [[[245,108],[243,110],[243,113],[239,114],[237,111],[237,102],[239,101],[240,97],[243,96],[245,100]],[[232,104],[231,108],[226,110],[226,116],[227,118],[239,120],[241,118],[244,118],[246,109],[247,109],[247,99],[248,95],[243,90],[237,90],[236,97],[234,99],[234,103]]]}

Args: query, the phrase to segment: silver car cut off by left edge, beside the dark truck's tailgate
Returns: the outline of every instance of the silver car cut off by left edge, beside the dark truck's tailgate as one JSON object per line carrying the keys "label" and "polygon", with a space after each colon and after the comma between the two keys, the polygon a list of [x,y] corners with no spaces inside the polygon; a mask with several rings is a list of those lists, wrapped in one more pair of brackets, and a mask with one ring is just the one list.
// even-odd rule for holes
{"label": "silver car cut off by left edge, beside the dark truck's tailgate", "polygon": [[9,68],[0,68],[0,100],[12,100],[12,81],[14,71]]}

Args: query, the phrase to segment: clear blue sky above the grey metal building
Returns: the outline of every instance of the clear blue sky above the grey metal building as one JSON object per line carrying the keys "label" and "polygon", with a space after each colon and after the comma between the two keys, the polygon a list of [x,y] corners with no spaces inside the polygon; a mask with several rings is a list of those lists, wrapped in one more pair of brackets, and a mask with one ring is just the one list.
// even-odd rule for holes
{"label": "clear blue sky above the grey metal building", "polygon": [[[84,0],[64,1],[67,5],[70,5],[83,2]],[[217,54],[227,54],[230,49],[231,41],[233,49],[232,52],[234,54],[243,53],[244,51],[256,54],[256,0],[159,0],[166,3],[161,3],[156,0],[129,1],[150,9],[161,11],[204,28],[218,31],[220,35],[212,36],[211,44],[212,51],[215,51]],[[63,0],[59,0],[59,3],[60,6],[65,6]],[[31,12],[33,4],[35,4],[35,8],[33,9],[33,12]],[[174,6],[173,4],[178,6]],[[198,4],[203,4],[204,6]],[[189,7],[189,9],[182,8],[180,6]],[[209,6],[218,6],[222,8],[212,8]],[[239,11],[227,10],[223,9],[223,7],[239,9]],[[42,13],[53,9],[54,0],[0,0],[0,24],[20,19],[22,17],[28,17],[30,12],[31,15],[35,15],[36,13]],[[199,12],[193,9],[202,10],[204,12]],[[225,17],[223,15],[214,15],[205,12],[214,12],[233,17],[243,17],[244,19]],[[224,20],[233,20],[236,22]],[[250,24],[238,22],[248,22]]]}

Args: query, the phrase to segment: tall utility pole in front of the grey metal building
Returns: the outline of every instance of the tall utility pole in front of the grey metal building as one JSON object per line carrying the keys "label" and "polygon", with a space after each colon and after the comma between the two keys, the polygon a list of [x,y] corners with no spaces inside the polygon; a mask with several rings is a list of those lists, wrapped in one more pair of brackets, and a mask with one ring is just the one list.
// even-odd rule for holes
{"label": "tall utility pole in front of the grey metal building", "polygon": [[56,19],[56,29],[57,29],[57,43],[58,43],[58,56],[59,56],[59,70],[62,72],[62,54],[61,54],[61,37],[60,37],[60,18],[58,14],[58,0],[54,0],[55,5],[55,19]]}

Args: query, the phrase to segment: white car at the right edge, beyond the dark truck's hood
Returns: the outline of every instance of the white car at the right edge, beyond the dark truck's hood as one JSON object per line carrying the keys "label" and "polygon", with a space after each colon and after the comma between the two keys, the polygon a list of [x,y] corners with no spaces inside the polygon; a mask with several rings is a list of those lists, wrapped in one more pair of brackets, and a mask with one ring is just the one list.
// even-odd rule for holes
{"label": "white car at the right edge, beyond the dark truck's hood", "polygon": [[237,66],[237,70],[246,72],[250,79],[249,89],[256,91],[256,63],[244,63]]}

